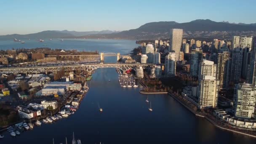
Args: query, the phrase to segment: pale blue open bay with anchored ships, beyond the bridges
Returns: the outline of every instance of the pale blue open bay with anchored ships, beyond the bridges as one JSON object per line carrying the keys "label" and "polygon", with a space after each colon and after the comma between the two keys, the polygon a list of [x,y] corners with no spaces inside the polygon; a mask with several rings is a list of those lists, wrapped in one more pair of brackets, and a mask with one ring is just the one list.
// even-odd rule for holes
{"label": "pale blue open bay with anchored ships, beyond the bridges", "polygon": [[38,40],[21,40],[25,41],[14,42],[13,40],[0,40],[0,50],[7,50],[11,48],[58,48],[64,50],[77,51],[100,51],[100,52],[120,52],[121,54],[129,53],[133,48],[138,47],[135,40],[97,40],[97,39],[61,39],[45,40],[41,43]]}

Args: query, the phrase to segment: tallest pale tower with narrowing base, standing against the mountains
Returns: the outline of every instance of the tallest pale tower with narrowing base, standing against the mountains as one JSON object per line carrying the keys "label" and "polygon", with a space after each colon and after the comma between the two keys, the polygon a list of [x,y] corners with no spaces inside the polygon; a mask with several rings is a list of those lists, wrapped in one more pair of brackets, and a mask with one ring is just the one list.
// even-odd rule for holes
{"label": "tallest pale tower with narrowing base, standing against the mountains", "polygon": [[171,29],[169,52],[175,51],[175,61],[179,61],[183,29]]}

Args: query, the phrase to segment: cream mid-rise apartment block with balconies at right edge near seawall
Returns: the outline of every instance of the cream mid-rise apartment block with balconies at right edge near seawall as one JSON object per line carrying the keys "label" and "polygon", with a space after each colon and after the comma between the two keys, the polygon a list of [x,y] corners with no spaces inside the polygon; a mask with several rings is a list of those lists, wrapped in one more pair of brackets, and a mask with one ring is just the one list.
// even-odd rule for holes
{"label": "cream mid-rise apartment block with balconies at right edge near seawall", "polygon": [[235,117],[251,119],[256,99],[255,85],[238,83],[234,89]]}

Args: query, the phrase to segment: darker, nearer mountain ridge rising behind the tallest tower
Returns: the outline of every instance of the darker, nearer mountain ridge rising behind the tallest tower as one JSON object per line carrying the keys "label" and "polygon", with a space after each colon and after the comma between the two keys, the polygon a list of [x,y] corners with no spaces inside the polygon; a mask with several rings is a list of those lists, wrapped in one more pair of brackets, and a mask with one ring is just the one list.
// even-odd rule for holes
{"label": "darker, nearer mountain ridge rising behind the tallest tower", "polygon": [[195,21],[177,23],[176,21],[150,22],[137,29],[130,29],[112,34],[87,35],[77,38],[111,38],[111,39],[141,39],[154,40],[169,38],[170,29],[183,29],[183,37],[188,38],[226,38],[232,35],[255,35],[256,24],[229,24],[216,22],[210,19],[197,19]]}

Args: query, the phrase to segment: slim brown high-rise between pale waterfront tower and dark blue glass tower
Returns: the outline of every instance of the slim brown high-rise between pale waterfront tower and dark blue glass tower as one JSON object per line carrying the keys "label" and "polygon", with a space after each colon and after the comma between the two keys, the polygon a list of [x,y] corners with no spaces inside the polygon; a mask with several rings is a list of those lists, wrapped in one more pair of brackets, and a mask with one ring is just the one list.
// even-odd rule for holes
{"label": "slim brown high-rise between pale waterfront tower and dark blue glass tower", "polygon": [[229,85],[229,52],[218,53],[216,78],[219,80],[220,88]]}

